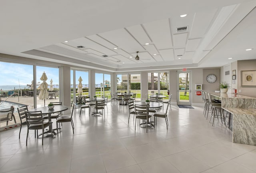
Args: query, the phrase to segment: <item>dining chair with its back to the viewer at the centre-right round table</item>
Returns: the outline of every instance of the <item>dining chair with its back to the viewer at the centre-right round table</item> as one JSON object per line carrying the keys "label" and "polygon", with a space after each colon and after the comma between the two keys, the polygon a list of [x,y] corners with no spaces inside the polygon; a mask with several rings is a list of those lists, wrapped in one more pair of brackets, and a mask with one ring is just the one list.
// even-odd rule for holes
{"label": "dining chair with its back to the viewer at the centre-right round table", "polygon": [[[152,117],[152,116],[148,114],[147,105],[135,104],[134,107],[135,107],[136,119],[142,119],[142,120],[146,121],[146,132],[148,133],[148,119],[150,119],[150,117]],[[135,119],[135,131],[136,131],[136,119]],[[139,125],[139,123],[140,122],[138,120],[137,125]]]}

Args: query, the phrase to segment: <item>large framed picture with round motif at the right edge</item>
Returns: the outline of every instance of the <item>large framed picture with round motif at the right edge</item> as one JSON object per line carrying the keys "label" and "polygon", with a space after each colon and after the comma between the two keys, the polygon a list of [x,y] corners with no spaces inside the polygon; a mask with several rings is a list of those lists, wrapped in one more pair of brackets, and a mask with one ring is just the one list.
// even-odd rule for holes
{"label": "large framed picture with round motif at the right edge", "polygon": [[256,86],[256,70],[241,71],[242,86]]}

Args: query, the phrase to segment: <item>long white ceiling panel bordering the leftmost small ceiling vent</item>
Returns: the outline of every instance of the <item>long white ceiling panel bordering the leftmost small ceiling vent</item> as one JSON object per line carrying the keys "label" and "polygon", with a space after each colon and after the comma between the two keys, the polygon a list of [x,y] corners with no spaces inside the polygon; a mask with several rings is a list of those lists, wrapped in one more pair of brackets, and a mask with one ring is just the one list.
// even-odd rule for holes
{"label": "long white ceiling panel bordering the leftmost small ceiling vent", "polygon": [[[103,54],[106,54],[106,55],[115,55],[116,52],[114,52],[113,50],[110,50],[88,38],[78,38],[78,39],[75,39],[75,40],[72,40],[73,42],[76,43],[76,45],[82,45],[82,46],[85,46],[86,48],[91,48],[93,50],[98,50],[99,52],[102,52]],[[69,42],[68,42],[69,44]]]}

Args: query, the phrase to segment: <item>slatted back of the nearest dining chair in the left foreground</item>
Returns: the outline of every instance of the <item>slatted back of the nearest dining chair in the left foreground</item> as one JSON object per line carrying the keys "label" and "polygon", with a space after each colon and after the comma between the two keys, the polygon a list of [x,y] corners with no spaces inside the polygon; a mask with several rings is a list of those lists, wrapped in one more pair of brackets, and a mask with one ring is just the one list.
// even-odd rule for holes
{"label": "slatted back of the nearest dining chair in the left foreground", "polygon": [[28,128],[30,125],[42,125],[44,129],[42,111],[25,111],[25,116]]}

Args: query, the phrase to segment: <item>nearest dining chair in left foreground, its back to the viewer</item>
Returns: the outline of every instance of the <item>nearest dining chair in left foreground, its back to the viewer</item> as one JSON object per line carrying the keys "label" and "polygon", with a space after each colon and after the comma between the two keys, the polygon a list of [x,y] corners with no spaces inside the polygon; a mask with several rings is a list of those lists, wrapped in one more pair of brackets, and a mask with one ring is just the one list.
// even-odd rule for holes
{"label": "nearest dining chair in left foreground, its back to the viewer", "polygon": [[[52,125],[52,122],[43,121],[42,111],[25,111],[27,129],[26,146],[28,145],[29,130],[42,129],[42,145],[44,145],[44,129]],[[38,138],[38,137],[37,137]]]}

